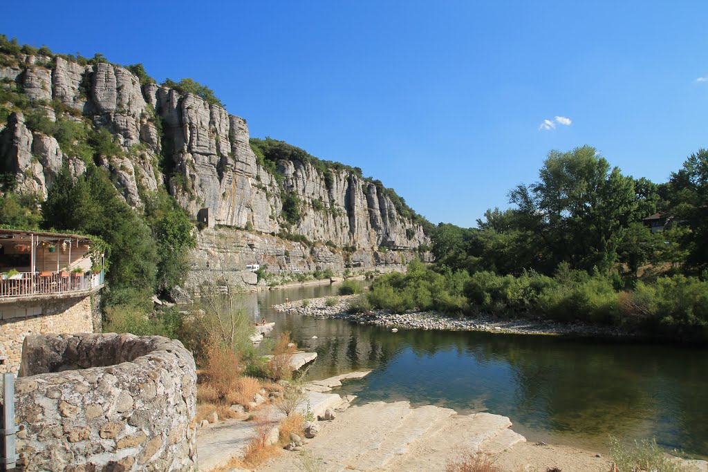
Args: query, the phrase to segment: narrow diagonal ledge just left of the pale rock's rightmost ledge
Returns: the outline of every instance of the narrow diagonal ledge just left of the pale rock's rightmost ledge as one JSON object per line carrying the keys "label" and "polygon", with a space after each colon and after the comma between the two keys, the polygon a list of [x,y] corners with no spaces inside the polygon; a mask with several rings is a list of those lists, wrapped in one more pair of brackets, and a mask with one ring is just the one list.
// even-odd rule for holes
{"label": "narrow diagonal ledge just left of the pale rock's rightmost ledge", "polygon": [[411,444],[418,440],[425,441],[431,434],[435,434],[445,425],[445,421],[455,414],[455,410],[433,405],[414,408],[395,430],[387,434],[376,449],[360,454],[347,465],[358,471],[384,468],[396,456],[407,454]]}

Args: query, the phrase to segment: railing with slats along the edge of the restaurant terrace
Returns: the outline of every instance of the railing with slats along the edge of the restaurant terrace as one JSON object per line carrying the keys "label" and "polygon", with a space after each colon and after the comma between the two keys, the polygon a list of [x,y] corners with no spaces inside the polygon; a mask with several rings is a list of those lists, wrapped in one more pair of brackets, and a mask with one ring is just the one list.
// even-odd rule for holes
{"label": "railing with slats along the edge of the restaurant terrace", "polygon": [[101,284],[103,284],[103,271],[98,274],[90,272],[19,272],[16,275],[2,276],[0,298],[85,292]]}

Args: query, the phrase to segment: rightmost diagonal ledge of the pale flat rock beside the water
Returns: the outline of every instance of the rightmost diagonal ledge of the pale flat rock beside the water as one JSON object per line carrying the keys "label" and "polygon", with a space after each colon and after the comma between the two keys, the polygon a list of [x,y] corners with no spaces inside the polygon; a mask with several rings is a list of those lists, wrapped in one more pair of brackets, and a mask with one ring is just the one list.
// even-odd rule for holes
{"label": "rightmost diagonal ledge of the pale flat rock beside the water", "polygon": [[384,471],[445,471],[445,464],[455,454],[479,451],[485,440],[496,437],[511,426],[506,416],[491,413],[453,416],[435,434],[416,442],[409,454],[387,464]]}

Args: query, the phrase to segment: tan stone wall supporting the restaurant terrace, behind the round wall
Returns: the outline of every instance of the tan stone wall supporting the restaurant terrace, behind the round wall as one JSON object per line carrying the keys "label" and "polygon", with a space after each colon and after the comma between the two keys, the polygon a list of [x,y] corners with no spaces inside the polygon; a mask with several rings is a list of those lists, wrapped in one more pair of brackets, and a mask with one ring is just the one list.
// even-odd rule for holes
{"label": "tan stone wall supporting the restaurant terrace, behind the round wall", "polygon": [[[28,335],[93,333],[91,296],[0,304],[0,346],[6,357],[0,372],[20,369],[22,343]],[[98,328],[100,330],[100,326]]]}

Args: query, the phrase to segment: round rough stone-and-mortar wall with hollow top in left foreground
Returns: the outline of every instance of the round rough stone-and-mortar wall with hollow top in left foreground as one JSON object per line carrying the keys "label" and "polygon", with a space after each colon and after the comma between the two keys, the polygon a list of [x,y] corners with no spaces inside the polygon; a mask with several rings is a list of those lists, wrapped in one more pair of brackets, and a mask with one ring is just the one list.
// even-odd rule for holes
{"label": "round rough stone-and-mortar wall with hollow top in left foreground", "polygon": [[28,336],[16,381],[26,471],[196,471],[196,369],[176,340]]}

